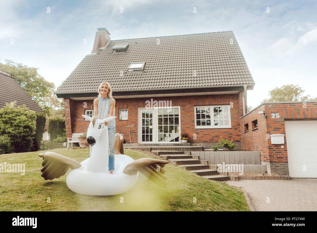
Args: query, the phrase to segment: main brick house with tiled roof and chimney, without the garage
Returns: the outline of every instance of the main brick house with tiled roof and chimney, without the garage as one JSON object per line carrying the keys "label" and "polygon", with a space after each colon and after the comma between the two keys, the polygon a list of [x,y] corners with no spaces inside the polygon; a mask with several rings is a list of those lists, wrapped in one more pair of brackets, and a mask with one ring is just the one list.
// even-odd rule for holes
{"label": "main brick house with tiled roof and chimney, without the garage", "polygon": [[192,144],[222,136],[240,148],[240,117],[255,82],[232,31],[112,41],[97,29],[92,53],[55,92],[64,98],[68,137],[87,130],[81,115],[92,115],[107,81],[125,142],[180,143],[186,131]]}

